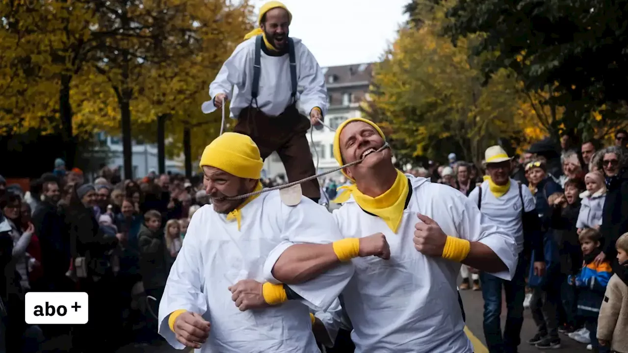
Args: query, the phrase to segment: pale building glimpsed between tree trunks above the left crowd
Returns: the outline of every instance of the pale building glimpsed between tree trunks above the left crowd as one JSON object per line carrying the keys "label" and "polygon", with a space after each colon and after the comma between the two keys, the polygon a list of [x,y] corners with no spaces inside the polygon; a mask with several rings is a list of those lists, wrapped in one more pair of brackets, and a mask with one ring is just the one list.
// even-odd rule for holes
{"label": "pale building glimpsed between tree trunks above the left crowd", "polygon": [[[119,168],[124,175],[124,158],[122,156],[122,139],[116,136],[107,136],[104,133],[98,134],[98,139],[107,144],[109,148],[109,168]],[[150,171],[159,171],[159,161],[157,158],[156,144],[143,144],[133,141],[133,178],[141,178],[148,175]],[[166,158],[166,172],[185,173],[183,160],[168,160]]]}

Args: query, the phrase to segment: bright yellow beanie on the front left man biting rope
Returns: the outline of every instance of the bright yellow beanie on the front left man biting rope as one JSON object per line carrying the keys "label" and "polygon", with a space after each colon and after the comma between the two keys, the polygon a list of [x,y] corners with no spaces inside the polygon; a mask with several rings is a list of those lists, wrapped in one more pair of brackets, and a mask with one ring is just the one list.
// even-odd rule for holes
{"label": "bright yellow beanie on the front left man biting rope", "polygon": [[261,178],[264,167],[257,144],[249,136],[237,133],[224,133],[208,144],[198,164],[249,179]]}

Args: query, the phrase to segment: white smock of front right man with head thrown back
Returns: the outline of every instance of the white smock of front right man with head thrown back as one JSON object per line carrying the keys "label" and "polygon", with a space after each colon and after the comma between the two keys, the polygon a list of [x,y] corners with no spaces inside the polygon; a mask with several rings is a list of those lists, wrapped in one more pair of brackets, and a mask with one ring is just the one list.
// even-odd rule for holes
{"label": "white smock of front right man with head thrown back", "polygon": [[460,263],[425,256],[414,248],[414,225],[421,213],[448,236],[479,241],[499,256],[510,271],[495,276],[510,280],[517,264],[513,237],[483,217],[465,195],[448,185],[406,175],[412,196],[397,234],[349,198],[333,212],[344,237],[382,232],[391,258],[354,258],[355,274],[343,291],[353,324],[356,353],[472,353],[464,332],[456,280]]}

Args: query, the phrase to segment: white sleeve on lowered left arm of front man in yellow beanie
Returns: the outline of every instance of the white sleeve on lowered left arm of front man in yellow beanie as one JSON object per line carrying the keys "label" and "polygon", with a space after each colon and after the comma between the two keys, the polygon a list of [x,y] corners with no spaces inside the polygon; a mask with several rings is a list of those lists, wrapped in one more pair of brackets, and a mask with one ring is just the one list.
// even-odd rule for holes
{"label": "white sleeve on lowered left arm of front man in yellow beanie", "polygon": [[200,315],[207,312],[207,298],[202,290],[203,262],[198,232],[202,227],[208,226],[202,222],[203,213],[200,209],[192,216],[181,251],[170,269],[159,305],[158,332],[175,349],[183,349],[185,346],[176,340],[175,334],[168,326],[170,313],[180,309]]}

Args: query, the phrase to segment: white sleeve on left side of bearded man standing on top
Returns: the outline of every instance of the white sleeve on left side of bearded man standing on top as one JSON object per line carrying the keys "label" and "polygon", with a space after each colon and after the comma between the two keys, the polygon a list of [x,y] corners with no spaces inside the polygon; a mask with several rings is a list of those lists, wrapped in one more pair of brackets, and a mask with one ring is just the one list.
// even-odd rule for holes
{"label": "white sleeve on left side of bearded man standing on top", "polygon": [[246,41],[237,46],[236,50],[231,56],[222,64],[218,75],[209,85],[209,97],[210,100],[204,102],[201,109],[203,113],[209,114],[214,112],[216,107],[214,106],[214,97],[219,93],[227,95],[227,99],[232,98],[232,90],[234,85],[238,89],[243,90],[246,83],[246,72],[252,67],[251,51],[249,50],[249,43]]}

